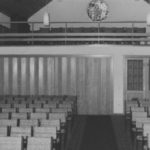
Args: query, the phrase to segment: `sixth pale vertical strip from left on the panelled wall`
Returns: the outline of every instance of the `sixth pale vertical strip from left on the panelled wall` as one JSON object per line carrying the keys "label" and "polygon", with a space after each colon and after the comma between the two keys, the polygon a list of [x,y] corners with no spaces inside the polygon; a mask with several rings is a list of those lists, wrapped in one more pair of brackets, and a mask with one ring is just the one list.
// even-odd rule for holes
{"label": "sixth pale vertical strip from left on the panelled wall", "polygon": [[48,80],[48,94],[55,94],[55,70],[54,70],[54,57],[47,58],[47,80]]}

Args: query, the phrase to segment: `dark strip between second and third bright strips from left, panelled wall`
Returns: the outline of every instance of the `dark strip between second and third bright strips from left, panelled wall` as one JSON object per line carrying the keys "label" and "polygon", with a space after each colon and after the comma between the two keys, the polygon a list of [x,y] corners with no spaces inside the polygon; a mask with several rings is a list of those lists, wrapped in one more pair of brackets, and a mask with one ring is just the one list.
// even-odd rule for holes
{"label": "dark strip between second and third bright strips from left, panelled wall", "polygon": [[18,84],[18,94],[21,95],[21,57],[18,57],[18,78],[17,78],[17,84]]}

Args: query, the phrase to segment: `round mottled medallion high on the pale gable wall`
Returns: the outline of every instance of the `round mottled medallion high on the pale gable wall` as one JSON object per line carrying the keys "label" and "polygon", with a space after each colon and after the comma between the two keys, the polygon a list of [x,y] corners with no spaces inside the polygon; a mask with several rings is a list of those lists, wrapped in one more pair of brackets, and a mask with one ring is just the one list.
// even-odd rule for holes
{"label": "round mottled medallion high on the pale gable wall", "polygon": [[108,15],[108,5],[104,0],[92,0],[88,4],[87,14],[92,21],[105,20]]}

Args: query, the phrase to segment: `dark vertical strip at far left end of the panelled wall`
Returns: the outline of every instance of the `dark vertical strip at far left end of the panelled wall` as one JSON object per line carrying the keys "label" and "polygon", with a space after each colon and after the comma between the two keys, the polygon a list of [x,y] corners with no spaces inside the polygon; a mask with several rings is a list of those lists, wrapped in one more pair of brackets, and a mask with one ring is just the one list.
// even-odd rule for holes
{"label": "dark vertical strip at far left end of the panelled wall", "polygon": [[4,58],[0,57],[0,95],[3,95],[4,91]]}

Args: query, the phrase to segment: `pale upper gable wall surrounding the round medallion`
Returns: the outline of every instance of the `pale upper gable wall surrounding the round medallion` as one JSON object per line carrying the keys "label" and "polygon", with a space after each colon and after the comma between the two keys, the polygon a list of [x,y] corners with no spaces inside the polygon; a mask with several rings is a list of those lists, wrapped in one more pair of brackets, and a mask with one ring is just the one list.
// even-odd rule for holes
{"label": "pale upper gable wall surrounding the round medallion", "polygon": [[[90,21],[86,9],[91,0],[53,0],[45,8],[34,14],[30,21],[42,21],[45,11],[50,13],[51,21]],[[109,5],[107,21],[144,21],[150,12],[150,5],[144,0],[105,0]]]}

